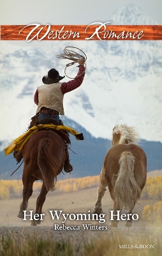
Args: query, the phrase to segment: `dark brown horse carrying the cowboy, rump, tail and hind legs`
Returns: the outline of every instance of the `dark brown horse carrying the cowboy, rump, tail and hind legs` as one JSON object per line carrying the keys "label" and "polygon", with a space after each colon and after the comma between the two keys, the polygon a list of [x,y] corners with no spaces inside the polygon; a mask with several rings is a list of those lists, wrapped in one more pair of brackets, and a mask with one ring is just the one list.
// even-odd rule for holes
{"label": "dark brown horse carrying the cowboy, rump, tail and hind legs", "polygon": [[[54,191],[56,177],[63,170],[66,157],[64,148],[65,145],[61,136],[50,130],[34,133],[24,145],[24,170],[22,175],[24,189],[18,218],[24,218],[23,211],[27,209],[35,180],[43,180],[35,211],[35,214],[41,214],[46,195],[48,191]],[[33,220],[31,225],[36,225],[36,223],[40,224],[40,220]]]}

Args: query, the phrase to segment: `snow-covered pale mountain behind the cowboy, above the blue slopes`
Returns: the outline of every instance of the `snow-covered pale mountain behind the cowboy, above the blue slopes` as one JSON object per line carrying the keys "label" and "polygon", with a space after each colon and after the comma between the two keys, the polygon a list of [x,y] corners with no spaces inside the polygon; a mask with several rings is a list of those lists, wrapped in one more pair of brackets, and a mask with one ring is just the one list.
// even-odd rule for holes
{"label": "snow-covered pale mountain behind the cowboy, above the blue slopes", "polygon": [[[114,24],[120,20],[120,24],[152,22],[132,5],[115,12],[112,18]],[[96,138],[110,139],[115,124],[128,124],[136,127],[143,139],[162,142],[161,41],[1,41],[0,141],[8,144],[26,131],[36,111],[34,92],[50,68],[64,75],[70,61],[55,56],[68,45],[86,53],[87,69],[82,86],[64,95],[66,117]],[[66,72],[75,77],[77,70],[73,65]],[[63,81],[69,81],[68,77]]]}

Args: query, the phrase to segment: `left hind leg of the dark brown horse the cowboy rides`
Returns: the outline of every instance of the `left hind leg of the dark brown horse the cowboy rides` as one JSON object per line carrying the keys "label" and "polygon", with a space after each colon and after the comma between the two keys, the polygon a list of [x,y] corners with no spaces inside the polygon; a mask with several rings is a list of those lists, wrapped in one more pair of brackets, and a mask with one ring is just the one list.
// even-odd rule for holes
{"label": "left hind leg of the dark brown horse the cowboy rides", "polygon": [[33,194],[33,183],[35,180],[36,180],[35,177],[31,175],[26,175],[23,173],[23,177],[22,177],[22,182],[24,185],[24,188],[22,191],[23,200],[22,200],[22,203],[20,204],[20,211],[18,212],[18,215],[17,215],[18,218],[22,218],[22,219],[24,218],[23,211],[26,211],[28,200],[30,196]]}

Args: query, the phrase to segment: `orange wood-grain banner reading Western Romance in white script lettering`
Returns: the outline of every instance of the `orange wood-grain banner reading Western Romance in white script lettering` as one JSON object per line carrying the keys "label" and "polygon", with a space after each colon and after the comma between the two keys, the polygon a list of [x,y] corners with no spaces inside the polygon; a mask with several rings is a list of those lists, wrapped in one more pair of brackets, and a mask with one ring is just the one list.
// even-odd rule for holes
{"label": "orange wood-grain banner reading Western Romance in white script lettering", "polygon": [[1,40],[162,40],[162,26],[112,26],[111,22],[89,25],[1,25]]}

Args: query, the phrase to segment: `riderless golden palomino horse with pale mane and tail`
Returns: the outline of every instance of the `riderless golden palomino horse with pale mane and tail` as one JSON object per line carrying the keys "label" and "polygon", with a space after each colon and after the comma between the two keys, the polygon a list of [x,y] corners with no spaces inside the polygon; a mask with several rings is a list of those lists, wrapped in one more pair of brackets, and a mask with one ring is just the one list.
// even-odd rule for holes
{"label": "riderless golden palomino horse with pale mane and tail", "polygon": [[[147,159],[144,150],[138,147],[139,136],[133,127],[115,125],[112,134],[112,148],[108,150],[99,175],[98,198],[94,213],[102,212],[101,200],[108,186],[114,201],[114,215],[122,209],[129,209],[126,227],[132,225],[132,211],[145,186]],[[114,216],[111,227],[117,227]]]}

